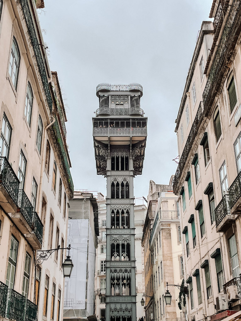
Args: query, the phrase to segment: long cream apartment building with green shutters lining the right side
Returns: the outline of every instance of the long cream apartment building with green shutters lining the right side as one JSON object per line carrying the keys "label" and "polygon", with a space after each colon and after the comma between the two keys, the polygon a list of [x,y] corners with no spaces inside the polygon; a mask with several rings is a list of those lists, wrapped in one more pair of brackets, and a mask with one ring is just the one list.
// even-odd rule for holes
{"label": "long cream apartment building with green shutters lining the right side", "polygon": [[240,314],[240,17],[241,1],[212,2],[176,119],[189,320]]}

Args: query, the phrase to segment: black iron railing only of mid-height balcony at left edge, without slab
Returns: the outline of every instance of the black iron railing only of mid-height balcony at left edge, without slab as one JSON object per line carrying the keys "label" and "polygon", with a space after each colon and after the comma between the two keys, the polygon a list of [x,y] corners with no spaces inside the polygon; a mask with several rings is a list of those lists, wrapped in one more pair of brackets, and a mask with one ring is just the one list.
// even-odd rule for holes
{"label": "black iron railing only of mid-height balcony at left edge, without slab", "polygon": [[0,157],[0,182],[18,205],[19,180],[6,157]]}

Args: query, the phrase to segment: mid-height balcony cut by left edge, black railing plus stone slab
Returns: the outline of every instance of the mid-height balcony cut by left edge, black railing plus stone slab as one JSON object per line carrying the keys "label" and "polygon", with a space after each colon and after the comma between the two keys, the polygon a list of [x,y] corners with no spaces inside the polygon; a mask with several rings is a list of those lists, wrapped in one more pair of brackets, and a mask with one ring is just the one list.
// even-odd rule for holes
{"label": "mid-height balcony cut by left edge, black railing plus stone slab", "polygon": [[17,211],[19,184],[6,157],[0,157],[0,204],[7,213]]}

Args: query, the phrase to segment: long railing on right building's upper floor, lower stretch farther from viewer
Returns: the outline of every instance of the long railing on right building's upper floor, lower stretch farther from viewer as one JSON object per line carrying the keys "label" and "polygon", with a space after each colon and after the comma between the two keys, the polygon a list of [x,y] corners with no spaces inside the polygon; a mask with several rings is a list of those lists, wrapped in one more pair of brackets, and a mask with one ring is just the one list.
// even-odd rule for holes
{"label": "long railing on right building's upper floor, lower stretch farther from viewer", "polygon": [[183,149],[183,153],[182,153],[182,156],[179,160],[179,164],[178,164],[178,167],[177,167],[174,179],[173,179],[173,190],[174,190],[175,194],[178,193],[177,184],[178,184],[179,179],[181,178],[183,168],[185,166],[189,152],[190,152],[191,147],[193,145],[193,141],[196,137],[196,134],[197,134],[197,131],[199,128],[199,124],[201,123],[201,120],[202,120],[202,115],[203,115],[203,102],[200,101],[197,114],[196,114],[195,119],[193,121],[192,128],[191,128],[190,133],[188,135],[187,142],[186,142],[185,147]]}

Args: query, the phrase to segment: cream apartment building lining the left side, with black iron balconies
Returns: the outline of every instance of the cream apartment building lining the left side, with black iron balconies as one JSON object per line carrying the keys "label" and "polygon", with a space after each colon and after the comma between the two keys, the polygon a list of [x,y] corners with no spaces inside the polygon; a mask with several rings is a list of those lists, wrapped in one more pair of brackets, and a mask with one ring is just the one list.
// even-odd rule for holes
{"label": "cream apartment building lining the left side, with black iron balconies", "polygon": [[[0,1],[0,317],[62,320],[67,121],[36,5]],[[59,250],[48,251],[50,249]]]}

